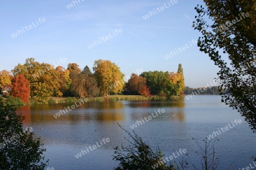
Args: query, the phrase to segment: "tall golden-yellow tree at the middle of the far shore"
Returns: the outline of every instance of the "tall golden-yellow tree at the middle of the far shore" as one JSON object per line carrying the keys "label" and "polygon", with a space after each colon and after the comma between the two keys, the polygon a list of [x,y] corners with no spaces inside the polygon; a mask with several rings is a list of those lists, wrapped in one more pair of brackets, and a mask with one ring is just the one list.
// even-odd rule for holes
{"label": "tall golden-yellow tree at the middle of the far shore", "polygon": [[121,93],[125,86],[124,74],[120,68],[109,60],[96,60],[93,66],[94,75],[100,84],[100,94],[103,96]]}

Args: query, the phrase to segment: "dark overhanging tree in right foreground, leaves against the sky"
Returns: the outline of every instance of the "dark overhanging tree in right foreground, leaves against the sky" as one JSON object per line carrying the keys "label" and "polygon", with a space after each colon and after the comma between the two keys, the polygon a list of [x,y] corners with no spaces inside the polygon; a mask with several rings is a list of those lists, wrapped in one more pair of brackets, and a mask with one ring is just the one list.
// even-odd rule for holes
{"label": "dark overhanging tree in right foreground, leaves against the sky", "polygon": [[[201,33],[200,51],[220,68],[222,102],[237,109],[256,131],[256,2],[204,0],[193,27]],[[223,53],[223,54],[222,54]]]}

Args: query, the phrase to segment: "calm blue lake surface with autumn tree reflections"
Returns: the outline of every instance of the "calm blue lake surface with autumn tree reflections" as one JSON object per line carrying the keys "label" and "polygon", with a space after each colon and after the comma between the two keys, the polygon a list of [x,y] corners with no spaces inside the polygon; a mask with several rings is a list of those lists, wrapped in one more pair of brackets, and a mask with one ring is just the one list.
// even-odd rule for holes
{"label": "calm blue lake surface with autumn tree reflections", "polygon": [[195,153],[199,151],[197,143],[204,146],[202,140],[214,135],[219,139],[215,145],[220,161],[218,169],[242,169],[253,163],[256,156],[256,135],[243,117],[220,99],[220,96],[194,96],[179,101],[91,102],[57,118],[53,114],[72,103],[24,106],[17,111],[26,116],[24,128],[32,127],[35,137],[42,138],[49,168],[113,169],[118,165],[112,157],[113,148],[127,146],[124,139],[127,134],[118,122],[128,131],[133,127],[149,146],[153,149],[159,146],[167,157],[185,149],[199,169],[201,157]]}

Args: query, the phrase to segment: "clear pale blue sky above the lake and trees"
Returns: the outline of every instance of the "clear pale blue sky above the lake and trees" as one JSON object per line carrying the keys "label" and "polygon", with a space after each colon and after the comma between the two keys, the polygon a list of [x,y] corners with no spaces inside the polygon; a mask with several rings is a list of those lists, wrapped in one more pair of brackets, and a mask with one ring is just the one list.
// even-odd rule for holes
{"label": "clear pale blue sky above the lake and trees", "polygon": [[[81,69],[92,69],[95,59],[109,59],[126,76],[137,70],[177,71],[181,63],[189,87],[207,86],[216,76],[218,67],[191,43],[200,36],[192,20],[195,6],[203,5],[203,0],[177,0],[173,5],[165,0],[79,1],[1,1],[0,70],[10,71],[30,57],[56,65],[59,61],[64,67],[75,62]],[[163,10],[157,11],[161,6]],[[145,20],[149,11],[152,16]],[[114,36],[115,29],[122,32]],[[108,40],[88,48],[107,35]],[[186,44],[189,48],[181,50]],[[176,54],[165,59],[171,51]]]}

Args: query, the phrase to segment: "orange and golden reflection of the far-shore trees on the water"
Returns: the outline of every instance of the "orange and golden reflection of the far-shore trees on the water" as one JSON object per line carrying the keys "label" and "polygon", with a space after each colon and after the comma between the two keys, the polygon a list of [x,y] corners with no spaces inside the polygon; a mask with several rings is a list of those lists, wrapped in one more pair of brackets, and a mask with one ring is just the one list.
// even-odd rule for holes
{"label": "orange and golden reflection of the far-shore trees on the water", "polygon": [[[30,122],[38,124],[49,124],[51,122],[65,121],[75,122],[80,121],[122,121],[129,119],[130,115],[126,115],[128,111],[131,113],[132,120],[138,120],[141,117],[148,116],[154,113],[158,108],[164,108],[162,118],[164,120],[184,120],[184,100],[178,101],[118,101],[118,102],[90,102],[82,104],[81,106],[66,112],[60,117],[53,117],[53,114],[60,113],[72,104],[53,104],[53,105],[35,105],[23,106],[18,108],[18,112],[26,116],[25,124]],[[170,109],[171,108],[171,109]]]}

